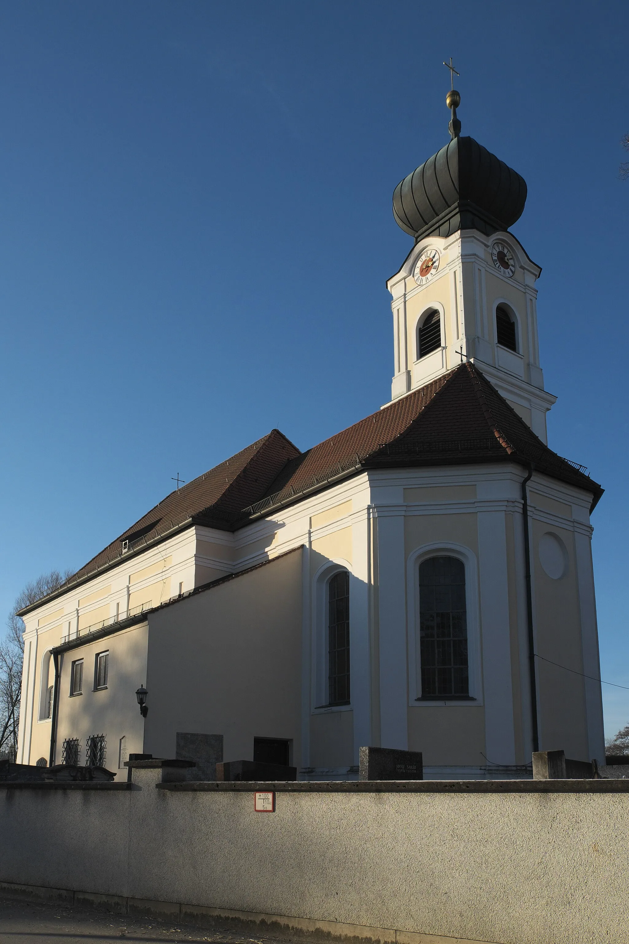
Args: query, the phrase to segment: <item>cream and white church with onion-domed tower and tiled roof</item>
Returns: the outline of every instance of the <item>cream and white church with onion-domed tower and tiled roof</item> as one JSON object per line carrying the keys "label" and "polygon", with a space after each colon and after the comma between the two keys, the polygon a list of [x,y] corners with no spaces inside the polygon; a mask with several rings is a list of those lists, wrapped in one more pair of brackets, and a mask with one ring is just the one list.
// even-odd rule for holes
{"label": "cream and white church with onion-domed tower and tiled roof", "polygon": [[547,444],[541,269],[509,232],[526,184],[459,101],[393,194],[390,402],[304,452],[272,430],[25,608],[18,762],[125,779],[197,738],[304,780],[356,779],[367,745],[437,779],[604,763],[603,490]]}

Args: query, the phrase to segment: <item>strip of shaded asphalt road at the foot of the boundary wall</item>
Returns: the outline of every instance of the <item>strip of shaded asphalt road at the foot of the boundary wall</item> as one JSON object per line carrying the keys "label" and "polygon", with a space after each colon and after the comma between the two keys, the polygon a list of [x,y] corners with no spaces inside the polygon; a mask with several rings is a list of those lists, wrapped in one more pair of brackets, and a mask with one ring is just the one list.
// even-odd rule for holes
{"label": "strip of shaded asphalt road at the foot of the boundary wall", "polygon": [[[33,902],[0,895],[2,944],[84,944],[85,941],[214,941],[221,944],[271,944],[279,938],[129,918],[107,911],[82,910],[54,902]],[[287,937],[281,938],[286,944]]]}

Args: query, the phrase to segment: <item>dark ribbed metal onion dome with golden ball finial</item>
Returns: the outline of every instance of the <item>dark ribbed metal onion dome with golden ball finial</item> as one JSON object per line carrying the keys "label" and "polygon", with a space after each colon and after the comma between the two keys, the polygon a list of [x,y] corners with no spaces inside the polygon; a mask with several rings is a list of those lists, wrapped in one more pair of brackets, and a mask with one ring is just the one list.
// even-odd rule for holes
{"label": "dark ribbed metal onion dome with golden ball finial", "polygon": [[450,143],[405,177],[393,193],[395,222],[416,242],[424,236],[449,236],[458,229],[477,229],[490,236],[513,226],[524,210],[523,177],[473,138],[460,137],[456,117],[460,102],[453,88],[446,96],[452,111]]}

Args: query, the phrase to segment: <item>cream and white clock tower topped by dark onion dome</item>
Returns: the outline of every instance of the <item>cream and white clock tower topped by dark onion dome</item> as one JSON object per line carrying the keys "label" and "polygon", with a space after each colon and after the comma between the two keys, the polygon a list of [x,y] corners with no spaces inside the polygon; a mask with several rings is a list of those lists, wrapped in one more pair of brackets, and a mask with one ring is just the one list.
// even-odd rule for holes
{"label": "cream and white clock tower topped by dark onion dome", "polygon": [[516,413],[547,443],[539,365],[540,267],[508,231],[526,200],[523,178],[470,137],[452,110],[451,141],[402,180],[393,215],[415,244],[389,278],[395,373],[391,399],[463,361],[478,362]]}

